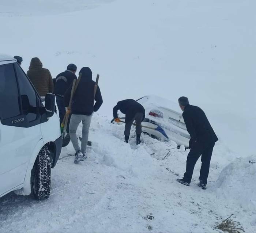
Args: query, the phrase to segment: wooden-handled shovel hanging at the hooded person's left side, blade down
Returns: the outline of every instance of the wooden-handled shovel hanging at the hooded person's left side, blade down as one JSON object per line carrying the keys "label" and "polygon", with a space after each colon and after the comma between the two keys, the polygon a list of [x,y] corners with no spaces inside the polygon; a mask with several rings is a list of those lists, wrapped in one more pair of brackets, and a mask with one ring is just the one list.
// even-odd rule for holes
{"label": "wooden-handled shovel hanging at the hooded person's left side, blade down", "polygon": [[[78,84],[80,82],[81,75],[82,74],[80,73],[79,76],[78,76],[78,79],[73,81],[71,94],[70,94],[70,99],[69,99],[69,104],[68,104],[68,110],[71,109],[74,93],[75,93],[76,88],[78,87]],[[60,133],[61,133],[61,137],[63,139],[62,140],[62,147],[67,146],[70,142],[70,136],[69,136],[69,134],[67,134],[68,118],[69,118],[69,114],[66,113],[65,116],[64,116],[64,119],[63,119],[63,121],[60,125]]]}

